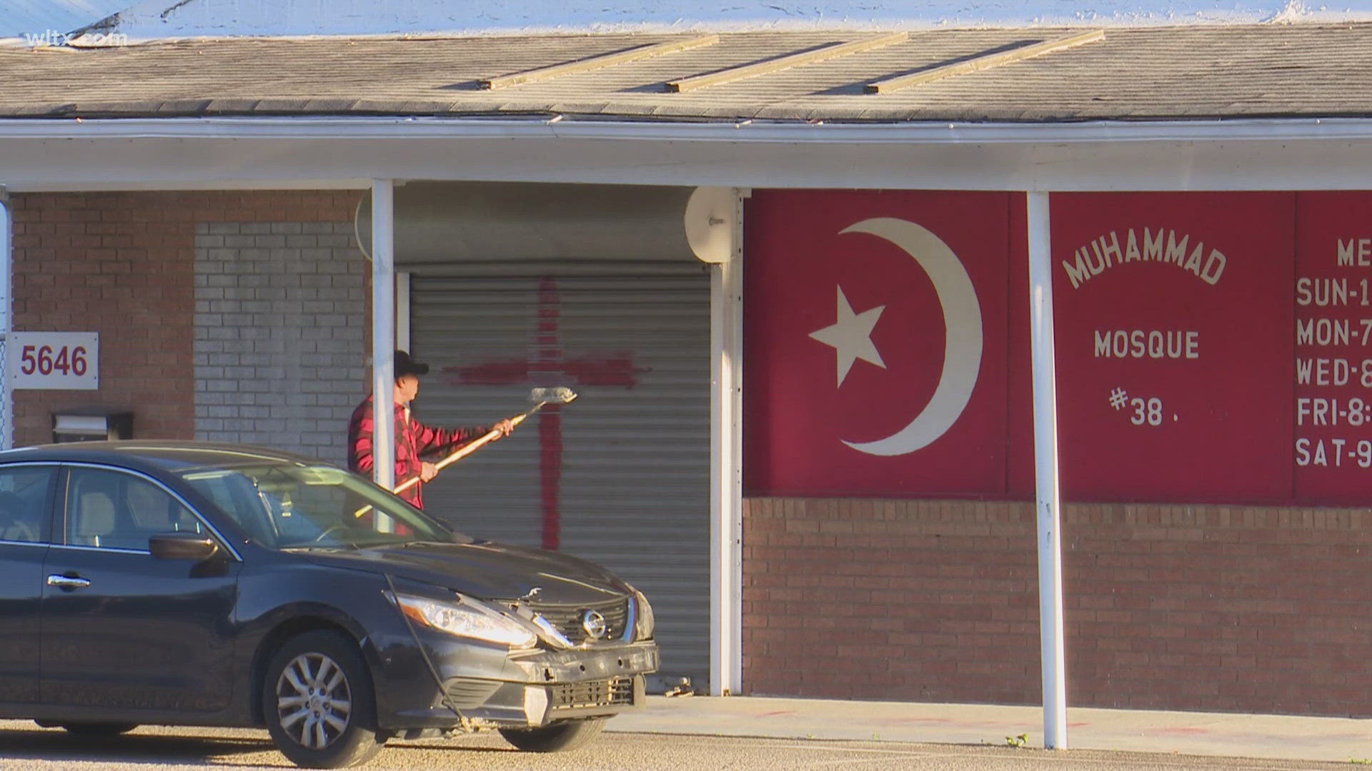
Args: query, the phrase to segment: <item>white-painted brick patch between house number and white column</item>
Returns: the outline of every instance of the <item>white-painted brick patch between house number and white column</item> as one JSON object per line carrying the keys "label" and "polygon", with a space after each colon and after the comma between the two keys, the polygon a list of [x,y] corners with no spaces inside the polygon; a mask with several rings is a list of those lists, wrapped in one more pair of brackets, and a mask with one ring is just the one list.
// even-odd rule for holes
{"label": "white-painted brick patch between house number and white column", "polygon": [[351,222],[198,225],[195,434],[343,462],[366,395]]}

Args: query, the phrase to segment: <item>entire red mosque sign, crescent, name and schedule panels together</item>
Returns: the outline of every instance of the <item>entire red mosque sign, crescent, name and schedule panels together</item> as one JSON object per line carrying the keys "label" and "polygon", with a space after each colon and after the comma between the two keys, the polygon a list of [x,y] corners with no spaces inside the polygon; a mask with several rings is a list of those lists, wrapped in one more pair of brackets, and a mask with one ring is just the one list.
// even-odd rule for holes
{"label": "entire red mosque sign, crescent, name and schedule panels together", "polygon": [[[1051,214],[1066,499],[1368,501],[1372,192]],[[755,193],[748,493],[1030,497],[1025,225],[1022,195]]]}

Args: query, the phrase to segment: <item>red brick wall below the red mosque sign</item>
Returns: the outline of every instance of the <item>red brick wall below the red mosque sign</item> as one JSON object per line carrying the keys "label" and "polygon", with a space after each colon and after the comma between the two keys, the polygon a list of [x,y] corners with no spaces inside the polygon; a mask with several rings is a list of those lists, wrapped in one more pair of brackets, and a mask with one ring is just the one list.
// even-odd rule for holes
{"label": "red brick wall below the red mosque sign", "polygon": [[[750,694],[1040,702],[1032,503],[749,499]],[[1067,505],[1067,702],[1372,715],[1372,514]]]}

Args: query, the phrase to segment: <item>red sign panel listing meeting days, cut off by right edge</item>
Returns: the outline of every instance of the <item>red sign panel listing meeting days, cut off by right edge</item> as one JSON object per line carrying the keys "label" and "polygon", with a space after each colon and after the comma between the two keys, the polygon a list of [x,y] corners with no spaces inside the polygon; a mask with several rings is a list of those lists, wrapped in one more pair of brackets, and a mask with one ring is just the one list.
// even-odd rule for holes
{"label": "red sign panel listing meeting days, cut off by right edge", "polygon": [[1372,193],[1297,193],[1295,494],[1372,498]]}

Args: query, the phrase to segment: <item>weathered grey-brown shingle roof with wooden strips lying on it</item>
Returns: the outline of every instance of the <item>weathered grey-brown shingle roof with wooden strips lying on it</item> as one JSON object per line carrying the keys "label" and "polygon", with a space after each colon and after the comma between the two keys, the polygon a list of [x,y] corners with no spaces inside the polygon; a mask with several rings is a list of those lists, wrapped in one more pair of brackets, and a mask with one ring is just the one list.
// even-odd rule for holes
{"label": "weathered grey-brown shingle roof with wooden strips lying on it", "polygon": [[685,93],[665,84],[871,33],[724,33],[690,48],[483,89],[493,77],[691,36],[224,38],[0,48],[0,117],[538,115],[735,121],[1087,121],[1372,115],[1372,23],[1109,29],[1104,38],[892,93],[874,81],[1067,37],[912,32],[904,43]]}

